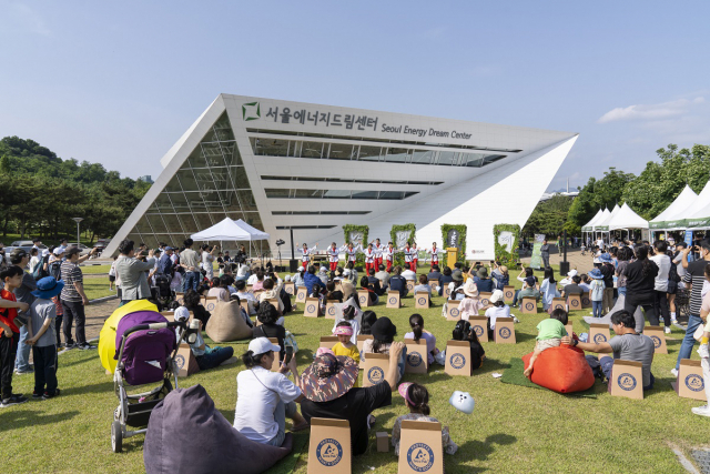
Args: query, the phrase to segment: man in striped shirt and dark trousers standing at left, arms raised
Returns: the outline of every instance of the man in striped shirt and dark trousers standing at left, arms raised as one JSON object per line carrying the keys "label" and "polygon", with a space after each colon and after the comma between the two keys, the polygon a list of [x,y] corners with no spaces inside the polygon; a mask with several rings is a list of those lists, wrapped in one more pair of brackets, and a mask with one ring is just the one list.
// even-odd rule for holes
{"label": "man in striped shirt and dark trousers standing at left, arms raised", "polygon": [[[61,266],[61,280],[64,282],[64,288],[60,294],[62,302],[63,324],[64,324],[64,341],[67,349],[79,347],[83,351],[89,349],[97,349],[87,342],[87,334],[84,332],[84,324],[87,322],[87,315],[84,313],[84,305],[89,304],[87,293],[84,293],[84,276],[79,268],[79,264],[97,252],[97,249],[91,249],[91,252],[84,256],[79,256],[81,250],[78,246],[72,246],[67,251],[67,260]],[[77,320],[77,342],[71,339],[71,326],[73,320]]]}

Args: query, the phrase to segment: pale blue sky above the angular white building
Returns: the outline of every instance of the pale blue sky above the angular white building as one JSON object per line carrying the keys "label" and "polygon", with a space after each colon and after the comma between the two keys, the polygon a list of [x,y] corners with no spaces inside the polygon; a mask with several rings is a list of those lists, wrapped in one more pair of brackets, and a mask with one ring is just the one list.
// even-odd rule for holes
{"label": "pale blue sky above the angular white building", "polygon": [[550,184],[710,144],[708,2],[0,0],[0,137],[136,178],[221,93],[580,133]]}

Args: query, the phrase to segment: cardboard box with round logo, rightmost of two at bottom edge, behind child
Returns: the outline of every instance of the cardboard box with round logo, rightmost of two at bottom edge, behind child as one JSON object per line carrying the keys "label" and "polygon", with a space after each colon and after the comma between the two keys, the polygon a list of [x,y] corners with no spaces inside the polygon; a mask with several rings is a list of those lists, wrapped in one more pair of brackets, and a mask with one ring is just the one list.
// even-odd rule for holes
{"label": "cardboard box with round logo, rightmost of two at bottom edge, behind child", "polygon": [[442,423],[402,422],[398,474],[444,474]]}

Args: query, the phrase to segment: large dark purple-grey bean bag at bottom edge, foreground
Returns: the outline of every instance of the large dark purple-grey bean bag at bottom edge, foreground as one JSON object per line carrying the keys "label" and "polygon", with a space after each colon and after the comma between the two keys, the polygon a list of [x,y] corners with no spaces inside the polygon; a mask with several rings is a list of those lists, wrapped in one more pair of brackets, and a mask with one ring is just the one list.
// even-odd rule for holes
{"label": "large dark purple-grey bean bag at bottom edge, foreground", "polygon": [[293,437],[281,447],[247,440],[214,407],[202,385],[175,389],[151,413],[143,444],[148,474],[257,474],[286,456]]}

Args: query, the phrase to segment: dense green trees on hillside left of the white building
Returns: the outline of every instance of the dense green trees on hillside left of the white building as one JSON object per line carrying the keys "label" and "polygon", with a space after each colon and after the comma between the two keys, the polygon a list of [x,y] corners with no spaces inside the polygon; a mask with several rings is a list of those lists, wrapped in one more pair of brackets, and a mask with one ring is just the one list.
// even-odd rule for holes
{"label": "dense green trees on hillside left of the white building", "polygon": [[0,226],[2,236],[57,241],[77,232],[93,243],[112,236],[150,184],[121,178],[100,163],[62,160],[33,140],[0,140]]}

